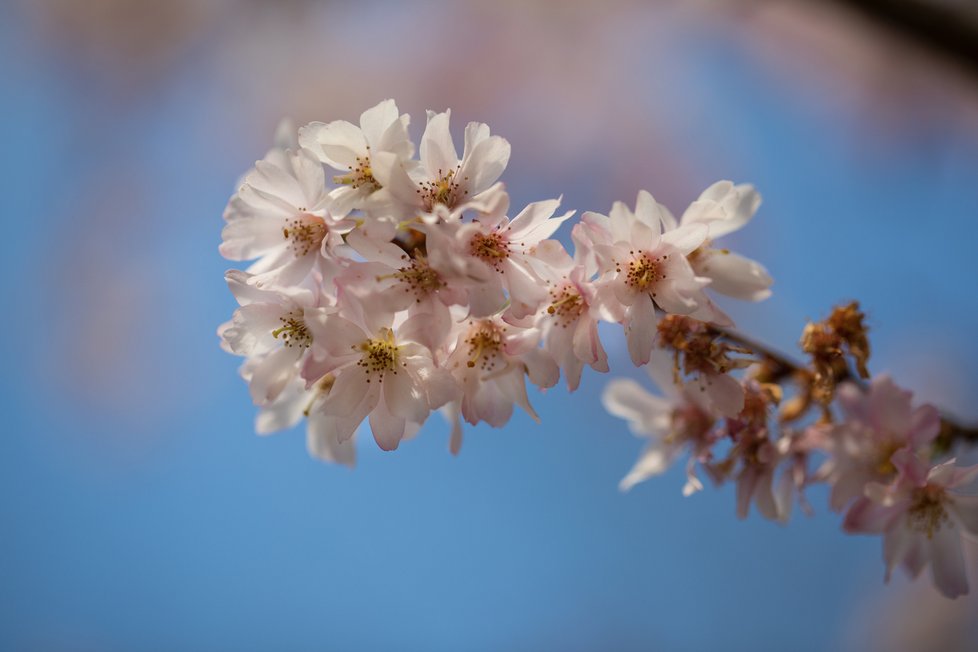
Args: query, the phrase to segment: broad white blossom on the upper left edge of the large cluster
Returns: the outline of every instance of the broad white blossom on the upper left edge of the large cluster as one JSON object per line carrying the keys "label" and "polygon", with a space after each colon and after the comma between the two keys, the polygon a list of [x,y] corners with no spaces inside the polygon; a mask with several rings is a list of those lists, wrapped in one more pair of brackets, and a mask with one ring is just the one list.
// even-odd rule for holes
{"label": "broad white blossom on the upper left edge of the large cluster", "polygon": [[245,177],[224,211],[221,255],[258,260],[252,282],[299,285],[323,260],[324,250],[343,242],[352,221],[329,212],[323,167],[304,151],[273,150]]}

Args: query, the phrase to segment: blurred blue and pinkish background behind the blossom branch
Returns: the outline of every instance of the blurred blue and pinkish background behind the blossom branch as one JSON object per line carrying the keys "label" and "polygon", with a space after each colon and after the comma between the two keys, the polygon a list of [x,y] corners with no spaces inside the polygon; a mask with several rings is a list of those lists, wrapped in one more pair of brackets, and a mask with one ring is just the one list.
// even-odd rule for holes
{"label": "blurred blue and pinkish background behind the blossom branch", "polygon": [[871,368],[978,420],[976,34],[964,0],[0,3],[0,649],[978,649],[975,597],[884,586],[824,492],[787,527],[681,468],[620,494],[607,377],[351,472],[254,435],[214,333],[279,119],[393,97],[416,138],[445,107],[507,137],[514,204],[754,183],[731,246],[776,284],[742,329],[794,351],[859,299]]}

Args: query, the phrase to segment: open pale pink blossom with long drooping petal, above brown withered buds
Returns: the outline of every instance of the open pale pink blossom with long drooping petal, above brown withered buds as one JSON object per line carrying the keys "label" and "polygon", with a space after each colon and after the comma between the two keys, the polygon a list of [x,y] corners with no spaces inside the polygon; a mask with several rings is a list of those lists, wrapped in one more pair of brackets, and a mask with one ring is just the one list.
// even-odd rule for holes
{"label": "open pale pink blossom with long drooping petal, above brown withered buds", "polygon": [[615,202],[608,216],[581,218],[602,271],[598,292],[603,301],[617,300],[623,307],[628,352],[636,365],[651,356],[656,307],[688,315],[709,302],[703,293],[709,280],[696,276],[686,260],[706,239],[707,227],[693,223],[664,231],[667,215],[643,190],[634,213]]}

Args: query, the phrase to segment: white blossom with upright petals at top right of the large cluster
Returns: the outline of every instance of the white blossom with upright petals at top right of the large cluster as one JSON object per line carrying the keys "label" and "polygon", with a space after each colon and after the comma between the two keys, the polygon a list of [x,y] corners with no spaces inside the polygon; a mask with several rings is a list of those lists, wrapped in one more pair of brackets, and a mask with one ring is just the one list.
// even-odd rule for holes
{"label": "white blossom with upright petals at top right of the large cluster", "polygon": [[449,131],[450,117],[451,111],[428,112],[420,165],[387,152],[375,156],[374,175],[400,203],[404,217],[431,213],[439,205],[451,209],[478,197],[496,183],[509,163],[509,143],[477,122],[465,128],[459,159]]}

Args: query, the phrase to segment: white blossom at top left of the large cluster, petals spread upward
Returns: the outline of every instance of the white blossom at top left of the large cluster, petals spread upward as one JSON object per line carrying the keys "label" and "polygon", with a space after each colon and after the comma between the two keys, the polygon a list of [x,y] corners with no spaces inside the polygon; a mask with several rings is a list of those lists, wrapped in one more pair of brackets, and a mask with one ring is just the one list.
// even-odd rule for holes
{"label": "white blossom at top left of the large cluster, petals spread upward", "polygon": [[339,185],[329,193],[330,210],[343,217],[350,211],[383,203],[377,195],[381,184],[374,176],[373,159],[390,156],[408,162],[414,143],[408,136],[410,117],[397,110],[394,100],[384,100],[360,116],[360,126],[346,120],[313,122],[299,130],[299,143],[316,158],[343,174],[333,177]]}

